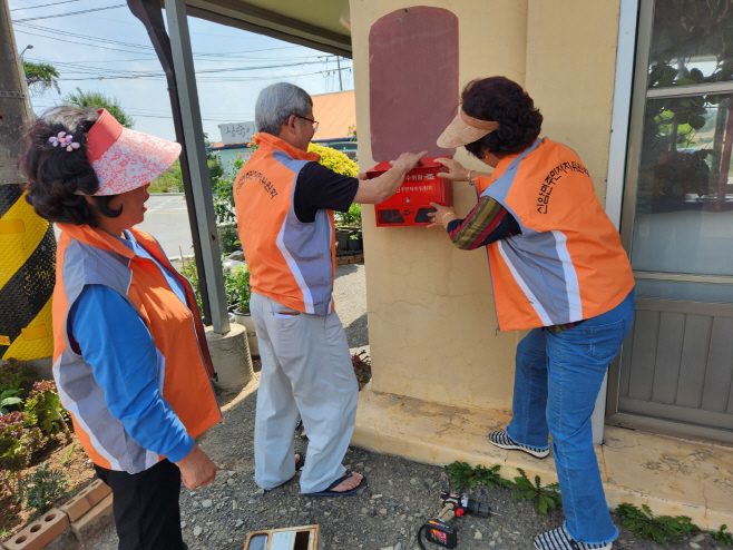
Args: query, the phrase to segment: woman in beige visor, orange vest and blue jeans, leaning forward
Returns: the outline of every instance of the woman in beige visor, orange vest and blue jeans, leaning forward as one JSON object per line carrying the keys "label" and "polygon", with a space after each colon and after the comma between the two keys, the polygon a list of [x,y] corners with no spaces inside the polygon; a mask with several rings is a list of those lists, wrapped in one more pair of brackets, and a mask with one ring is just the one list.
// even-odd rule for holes
{"label": "woman in beige visor, orange vest and blue jeans, leaning forward", "polygon": [[433,204],[460,249],[488,248],[498,328],[530,330],[517,346],[514,419],[489,442],[537,459],[548,434],[566,521],[535,538],[538,550],[607,550],[618,536],[603,491],[590,415],[608,363],[634,317],[634,277],[593,180],[568,147],[539,138],[543,116],[516,82],[470,82],[438,139],[493,168],[437,159],[455,181],[475,181],[465,218]]}

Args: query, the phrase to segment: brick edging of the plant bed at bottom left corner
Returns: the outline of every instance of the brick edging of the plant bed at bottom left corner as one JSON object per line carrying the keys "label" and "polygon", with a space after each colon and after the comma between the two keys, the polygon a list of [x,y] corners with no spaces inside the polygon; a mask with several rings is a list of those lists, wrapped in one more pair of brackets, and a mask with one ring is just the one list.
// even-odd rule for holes
{"label": "brick edging of the plant bed at bottom left corner", "polygon": [[[106,529],[113,521],[111,489],[101,480],[94,481],[79,494],[59,508],[52,508],[38,520],[0,543],[4,550],[40,550],[51,542],[74,533],[79,544]],[[66,537],[68,539],[68,537]],[[67,543],[63,548],[69,548]]]}

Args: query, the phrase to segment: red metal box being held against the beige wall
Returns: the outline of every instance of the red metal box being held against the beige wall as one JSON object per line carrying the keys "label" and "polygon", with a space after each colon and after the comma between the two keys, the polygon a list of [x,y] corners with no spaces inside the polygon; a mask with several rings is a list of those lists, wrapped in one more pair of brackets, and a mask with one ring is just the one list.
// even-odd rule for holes
{"label": "red metal box being held against the beige wall", "polygon": [[[375,178],[392,167],[389,161],[380,163],[366,173]],[[422,164],[408,173],[394,195],[374,205],[377,227],[429,225],[428,213],[434,212],[430,203],[453,206],[453,185],[438,177],[442,165],[436,157],[424,157]]]}

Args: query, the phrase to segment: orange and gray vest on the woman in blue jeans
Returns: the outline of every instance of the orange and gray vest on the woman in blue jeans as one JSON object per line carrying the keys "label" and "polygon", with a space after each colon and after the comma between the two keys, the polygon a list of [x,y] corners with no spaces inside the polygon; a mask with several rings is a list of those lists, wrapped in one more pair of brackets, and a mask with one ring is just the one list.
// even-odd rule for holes
{"label": "orange and gray vest on the woman in blue jeans", "polygon": [[616,307],[634,288],[620,237],[573,149],[547,138],[477,178],[521,234],[488,246],[501,331],[573,323]]}

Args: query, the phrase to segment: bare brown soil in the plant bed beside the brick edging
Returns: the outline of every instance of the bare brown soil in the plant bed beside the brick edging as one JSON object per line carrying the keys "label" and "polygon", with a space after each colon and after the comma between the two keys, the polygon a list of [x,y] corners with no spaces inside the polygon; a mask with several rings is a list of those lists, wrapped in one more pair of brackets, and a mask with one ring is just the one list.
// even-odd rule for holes
{"label": "bare brown soil in the plant bed beside the brick edging", "polygon": [[[91,461],[74,433],[70,441],[67,441],[65,435],[48,438],[46,444],[33,453],[30,465],[20,471],[20,477],[32,475],[36,468],[43,462],[48,462],[49,470],[60,470],[68,478],[69,484],[66,490],[72,494],[79,492],[95,478]],[[59,499],[53,505],[63,504],[67,500],[69,499]],[[6,484],[0,484],[0,518],[2,518],[0,537],[4,538],[22,529],[33,513],[33,510],[28,510],[14,501]]]}

